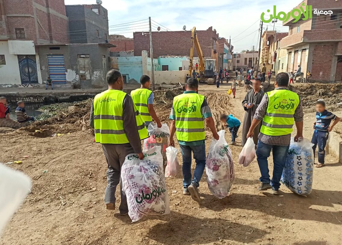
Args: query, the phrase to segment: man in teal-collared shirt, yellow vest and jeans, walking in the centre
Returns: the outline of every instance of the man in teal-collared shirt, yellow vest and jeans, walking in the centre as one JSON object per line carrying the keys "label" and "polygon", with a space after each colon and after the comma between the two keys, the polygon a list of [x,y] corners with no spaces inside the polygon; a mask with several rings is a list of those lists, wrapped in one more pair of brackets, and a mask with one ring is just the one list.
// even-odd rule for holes
{"label": "man in teal-collared shirt, yellow vest and jeans, walking in the centre", "polygon": [[[213,137],[218,140],[215,123],[204,95],[198,94],[198,81],[189,78],[186,91],[173,98],[170,119],[170,143],[174,146],[173,136],[176,133],[183,157],[183,194],[190,195],[199,202],[198,186],[206,166],[206,145],[204,121],[210,128]],[[196,168],[191,175],[191,155],[194,154]]]}

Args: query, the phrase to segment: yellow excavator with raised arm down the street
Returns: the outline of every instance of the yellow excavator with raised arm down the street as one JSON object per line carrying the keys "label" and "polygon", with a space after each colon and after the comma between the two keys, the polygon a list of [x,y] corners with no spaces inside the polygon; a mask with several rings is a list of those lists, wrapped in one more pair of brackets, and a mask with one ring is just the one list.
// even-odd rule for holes
{"label": "yellow excavator with raised arm down the street", "polygon": [[201,77],[200,81],[208,82],[208,78],[214,78],[216,76],[216,73],[217,73],[216,72],[216,60],[214,59],[204,60],[204,55],[203,55],[201,46],[199,44],[195,26],[192,28],[192,32],[191,32],[190,63],[189,63],[189,76],[190,77],[192,77],[192,73],[193,73],[192,67],[193,67],[193,59],[194,59],[194,46],[196,47],[196,50],[198,53],[198,59],[199,59],[198,72]]}

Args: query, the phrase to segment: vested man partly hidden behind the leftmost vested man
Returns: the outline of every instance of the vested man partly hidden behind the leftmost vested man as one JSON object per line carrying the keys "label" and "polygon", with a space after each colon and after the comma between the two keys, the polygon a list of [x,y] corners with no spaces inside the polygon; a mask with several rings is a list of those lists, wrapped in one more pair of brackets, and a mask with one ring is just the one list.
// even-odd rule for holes
{"label": "vested man partly hidden behind the leftmost vested man", "polygon": [[140,84],[140,89],[135,89],[131,92],[133,102],[143,117],[146,127],[152,122],[153,118],[157,123],[157,127],[161,128],[160,120],[153,107],[154,94],[149,90],[151,87],[151,79],[147,75],[142,75]]}

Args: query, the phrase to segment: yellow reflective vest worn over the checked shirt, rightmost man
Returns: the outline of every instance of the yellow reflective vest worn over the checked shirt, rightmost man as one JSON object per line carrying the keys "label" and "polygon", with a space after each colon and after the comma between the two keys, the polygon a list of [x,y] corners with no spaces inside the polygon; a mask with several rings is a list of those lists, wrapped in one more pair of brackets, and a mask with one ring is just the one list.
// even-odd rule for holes
{"label": "yellow reflective vest worn over the checked shirt, rightmost man", "polygon": [[260,132],[269,136],[292,133],[294,112],[299,105],[298,94],[287,89],[267,92],[268,105]]}

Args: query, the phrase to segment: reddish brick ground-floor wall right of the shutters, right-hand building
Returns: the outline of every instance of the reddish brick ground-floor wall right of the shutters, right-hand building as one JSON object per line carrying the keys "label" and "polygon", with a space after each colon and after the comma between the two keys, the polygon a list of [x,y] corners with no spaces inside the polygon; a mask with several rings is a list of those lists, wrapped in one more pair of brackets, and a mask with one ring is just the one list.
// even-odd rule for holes
{"label": "reddish brick ground-floor wall right of the shutters, right-hand building", "polygon": [[313,52],[311,74],[313,80],[329,81],[331,74],[332,57],[336,44],[316,44],[310,49]]}

